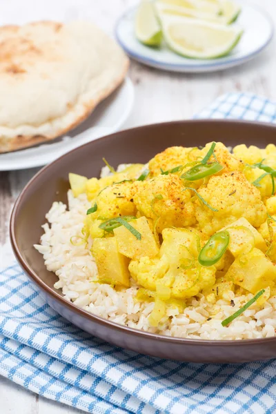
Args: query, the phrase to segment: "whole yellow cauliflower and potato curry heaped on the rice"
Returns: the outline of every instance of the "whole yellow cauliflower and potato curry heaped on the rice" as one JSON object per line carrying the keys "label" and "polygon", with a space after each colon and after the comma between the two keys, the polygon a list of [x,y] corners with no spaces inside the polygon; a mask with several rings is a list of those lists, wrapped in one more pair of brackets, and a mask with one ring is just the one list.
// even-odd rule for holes
{"label": "whole yellow cauliflower and potato curry heaped on the rice", "polygon": [[137,300],[155,302],[152,326],[199,294],[250,292],[250,304],[276,294],[276,146],[171,147],[121,172],[104,161],[107,177],[69,176],[91,203],[83,237],[100,282],[135,282]]}

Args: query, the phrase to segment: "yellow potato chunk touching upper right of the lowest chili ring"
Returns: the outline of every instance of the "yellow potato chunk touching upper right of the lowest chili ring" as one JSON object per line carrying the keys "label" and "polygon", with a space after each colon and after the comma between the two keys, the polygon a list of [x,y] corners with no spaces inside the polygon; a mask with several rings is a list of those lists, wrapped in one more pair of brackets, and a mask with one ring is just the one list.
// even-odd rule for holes
{"label": "yellow potato chunk touching upper right of the lowest chili ring", "polygon": [[[247,231],[246,229],[250,231]],[[237,221],[234,221],[234,223],[229,224],[229,226],[226,226],[221,230],[228,230],[228,233],[230,234],[228,250],[230,250],[234,257],[239,256],[244,251],[246,246],[252,246],[252,242],[256,248],[259,248],[259,250],[262,250],[263,252],[267,250],[264,237],[262,237],[262,235],[253,226],[251,226],[249,221],[244,217],[241,217]]]}

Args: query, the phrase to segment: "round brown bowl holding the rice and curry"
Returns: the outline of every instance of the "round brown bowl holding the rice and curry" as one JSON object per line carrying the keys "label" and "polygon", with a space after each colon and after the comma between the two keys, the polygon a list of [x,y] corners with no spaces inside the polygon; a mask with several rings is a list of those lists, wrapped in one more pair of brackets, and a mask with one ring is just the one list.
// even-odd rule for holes
{"label": "round brown bowl holding the rice and curry", "polygon": [[40,170],[23,189],[12,211],[10,237],[17,260],[46,302],[79,328],[122,348],[155,357],[191,362],[248,362],[276,357],[276,338],[208,341],[154,335],[91,315],[63,299],[53,287],[57,276],[48,272],[33,248],[53,201],[66,202],[68,172],[98,177],[102,157],[110,164],[145,163],[168,146],[200,146],[223,141],[227,146],[276,141],[276,127],[244,121],[179,121],[142,126],[83,145]]}

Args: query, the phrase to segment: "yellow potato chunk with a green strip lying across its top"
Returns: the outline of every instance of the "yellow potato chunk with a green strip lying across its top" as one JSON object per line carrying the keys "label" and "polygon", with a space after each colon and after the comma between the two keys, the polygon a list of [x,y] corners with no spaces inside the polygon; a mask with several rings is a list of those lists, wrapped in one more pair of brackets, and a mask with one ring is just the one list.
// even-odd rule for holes
{"label": "yellow potato chunk with a green strip lying across its top", "polygon": [[143,256],[155,257],[158,255],[159,248],[146,217],[132,220],[130,225],[141,233],[141,240],[132,235],[130,230],[124,226],[115,228],[114,234],[119,252],[130,257],[130,259],[139,259]]}

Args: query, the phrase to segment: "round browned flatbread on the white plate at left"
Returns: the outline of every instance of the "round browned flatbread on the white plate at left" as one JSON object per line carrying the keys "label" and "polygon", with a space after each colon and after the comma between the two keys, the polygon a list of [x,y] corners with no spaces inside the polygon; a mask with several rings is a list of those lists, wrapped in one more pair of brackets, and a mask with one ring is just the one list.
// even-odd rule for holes
{"label": "round browned flatbread on the white plate at left", "polygon": [[0,152],[54,139],[119,86],[128,58],[92,23],[0,28]]}

